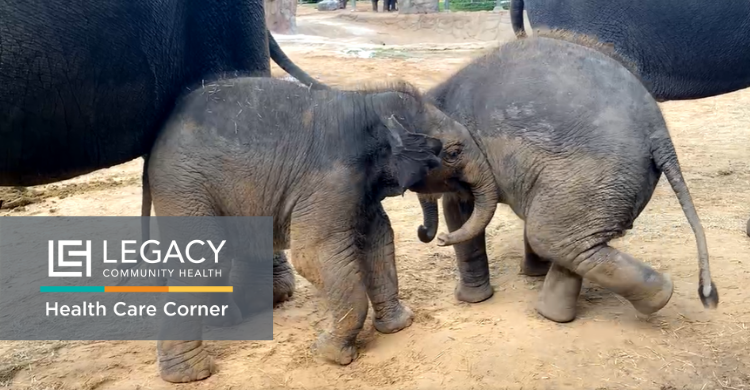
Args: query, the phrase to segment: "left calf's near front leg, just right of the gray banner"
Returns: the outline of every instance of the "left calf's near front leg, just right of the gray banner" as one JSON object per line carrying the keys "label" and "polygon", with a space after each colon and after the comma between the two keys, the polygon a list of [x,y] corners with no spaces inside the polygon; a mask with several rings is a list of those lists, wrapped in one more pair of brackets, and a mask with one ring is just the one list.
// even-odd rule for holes
{"label": "left calf's near front leg, just right of the gray banner", "polygon": [[321,290],[328,301],[332,324],[321,334],[313,351],[347,365],[357,358],[354,341],[367,318],[368,300],[362,280],[363,256],[354,232],[343,230],[347,221],[318,208],[304,221],[292,217],[291,248],[295,270]]}

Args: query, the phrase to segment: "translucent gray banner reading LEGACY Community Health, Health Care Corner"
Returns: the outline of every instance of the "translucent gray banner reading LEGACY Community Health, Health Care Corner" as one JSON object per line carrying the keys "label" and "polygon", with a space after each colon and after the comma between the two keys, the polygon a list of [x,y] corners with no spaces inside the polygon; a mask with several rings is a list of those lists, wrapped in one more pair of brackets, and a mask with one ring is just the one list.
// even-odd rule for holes
{"label": "translucent gray banner reading LEGACY Community Health, Health Care Corner", "polygon": [[272,310],[272,217],[0,218],[0,340],[272,340]]}

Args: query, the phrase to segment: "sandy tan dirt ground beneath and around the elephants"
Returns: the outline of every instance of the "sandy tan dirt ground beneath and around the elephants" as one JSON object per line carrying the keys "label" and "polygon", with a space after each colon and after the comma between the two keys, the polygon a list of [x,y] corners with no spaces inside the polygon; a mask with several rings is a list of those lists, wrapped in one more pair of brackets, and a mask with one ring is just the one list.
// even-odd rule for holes
{"label": "sandy tan dirt ground beneath and around the elephants", "polygon": [[[359,9],[368,7],[363,1],[358,4]],[[423,47],[408,46],[409,39],[419,43],[430,34],[419,28],[377,27],[378,18],[392,21],[403,15],[377,15],[365,23],[356,20],[365,12],[320,16],[300,8],[300,30],[325,36],[321,31],[326,24],[316,25],[317,18],[361,32],[340,40],[317,38],[317,43],[311,43],[310,35],[279,39],[298,65],[330,85],[354,87],[403,78],[427,89],[478,54],[478,48],[493,43],[455,38],[442,49],[439,39]],[[499,25],[506,30],[496,35],[510,39],[510,26]],[[383,37],[393,43],[376,42]],[[350,50],[340,50],[344,46]],[[274,75],[286,76],[277,67]],[[750,238],[744,233],[750,217],[750,90],[661,106],[706,229],[721,298],[716,311],[704,310],[698,299],[695,239],[666,180],[635,228],[613,245],[672,276],[675,293],[670,303],[642,316],[623,299],[584,282],[580,314],[569,324],[550,322],[534,311],[543,280],[518,275],[523,225],[507,206],[498,208],[487,233],[494,297],[473,305],[456,301],[453,250],[417,239],[421,213],[416,197],[408,193],[387,199],[385,205],[396,234],[400,295],[416,313],[414,324],[382,335],[368,319],[360,335],[360,357],[349,366],[310,356],[309,347],[329,318],[314,289],[297,277],[293,300],[274,312],[274,340],[206,342],[220,371],[204,381],[163,382],[152,341],[2,342],[0,386],[750,389],[750,290],[745,288],[750,281]],[[141,165],[138,159],[55,185],[5,189],[0,215],[139,215]],[[445,230],[441,220],[440,231]]]}

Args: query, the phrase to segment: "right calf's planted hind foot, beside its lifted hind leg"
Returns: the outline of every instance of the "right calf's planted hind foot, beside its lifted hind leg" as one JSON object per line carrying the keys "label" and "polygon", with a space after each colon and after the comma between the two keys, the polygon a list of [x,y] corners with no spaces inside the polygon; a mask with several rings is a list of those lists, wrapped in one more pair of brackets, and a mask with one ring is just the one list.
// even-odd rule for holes
{"label": "right calf's planted hind foot, beside its lifted hind leg", "polygon": [[544,279],[536,311],[544,318],[559,322],[571,322],[576,318],[576,303],[581,293],[583,278],[557,264],[551,264]]}

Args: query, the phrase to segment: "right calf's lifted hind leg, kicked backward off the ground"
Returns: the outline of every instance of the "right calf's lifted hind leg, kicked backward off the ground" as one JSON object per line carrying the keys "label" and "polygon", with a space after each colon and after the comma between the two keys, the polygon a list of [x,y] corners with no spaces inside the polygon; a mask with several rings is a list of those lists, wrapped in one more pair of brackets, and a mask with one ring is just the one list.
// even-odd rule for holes
{"label": "right calf's lifted hind leg, kicked backward off the ground", "polygon": [[571,269],[627,299],[643,314],[661,310],[674,291],[668,275],[607,244],[579,255]]}

